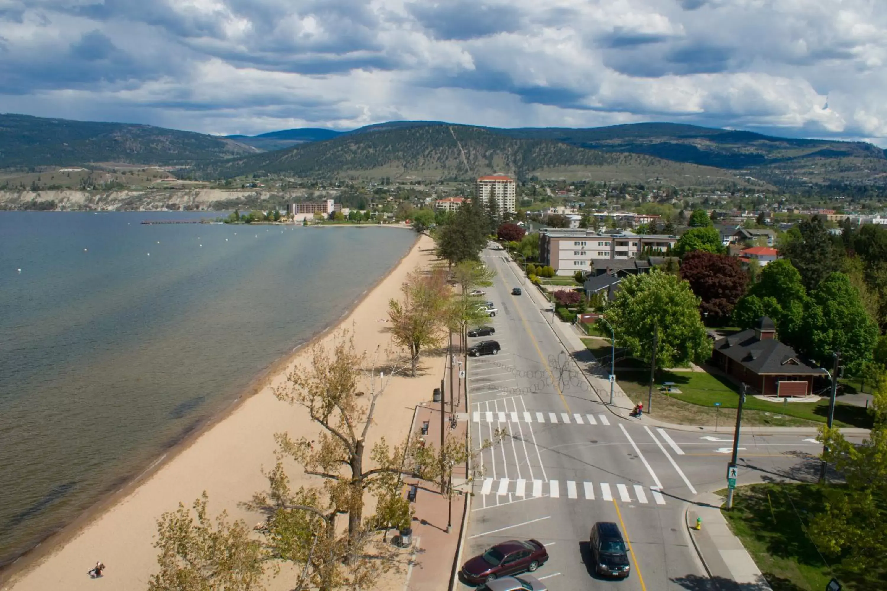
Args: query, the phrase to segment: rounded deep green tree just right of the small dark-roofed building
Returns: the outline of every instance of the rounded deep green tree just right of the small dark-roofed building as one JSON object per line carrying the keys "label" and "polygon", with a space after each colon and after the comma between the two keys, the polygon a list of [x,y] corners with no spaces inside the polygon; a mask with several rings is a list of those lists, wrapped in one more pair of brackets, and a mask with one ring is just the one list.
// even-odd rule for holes
{"label": "rounded deep green tree just right of the small dark-roofed building", "polygon": [[840,351],[848,373],[859,374],[872,357],[878,327],[850,279],[844,273],[829,275],[811,293],[804,312],[802,350],[824,366],[833,351]]}

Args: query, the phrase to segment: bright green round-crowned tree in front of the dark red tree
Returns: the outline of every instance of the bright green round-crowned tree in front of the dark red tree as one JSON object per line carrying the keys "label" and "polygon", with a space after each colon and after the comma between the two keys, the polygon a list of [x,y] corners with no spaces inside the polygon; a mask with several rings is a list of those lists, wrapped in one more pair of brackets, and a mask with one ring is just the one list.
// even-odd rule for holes
{"label": "bright green round-crowned tree in front of the dark red tree", "polygon": [[699,317],[700,300],[690,284],[678,276],[653,270],[627,276],[605,314],[616,340],[632,355],[650,361],[653,333],[658,335],[657,367],[703,362],[711,354],[711,341]]}

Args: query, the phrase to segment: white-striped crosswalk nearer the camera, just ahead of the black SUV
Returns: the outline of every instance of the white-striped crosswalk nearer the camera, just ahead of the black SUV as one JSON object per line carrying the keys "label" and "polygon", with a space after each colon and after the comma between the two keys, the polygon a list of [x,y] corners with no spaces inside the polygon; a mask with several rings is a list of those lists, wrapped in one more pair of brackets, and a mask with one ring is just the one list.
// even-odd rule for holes
{"label": "white-striped crosswalk nearer the camera, just ahead of the black SUV", "polygon": [[[483,496],[512,494],[521,498],[548,496],[552,499],[560,499],[566,497],[567,499],[578,500],[580,483],[577,483],[576,480],[566,480],[563,484],[564,486],[561,487],[560,480],[548,480],[545,482],[543,480],[527,480],[524,478],[483,478],[480,494]],[[599,482],[597,484],[597,491],[595,491],[593,482],[584,481],[581,483],[581,494],[585,501],[613,501],[618,498],[621,502],[638,502],[646,505],[651,504],[647,496],[649,491],[656,505],[665,504],[665,497],[663,497],[662,491],[655,486],[644,488],[640,485],[617,483],[615,485],[616,491],[614,492],[614,487],[610,486],[608,482]]]}

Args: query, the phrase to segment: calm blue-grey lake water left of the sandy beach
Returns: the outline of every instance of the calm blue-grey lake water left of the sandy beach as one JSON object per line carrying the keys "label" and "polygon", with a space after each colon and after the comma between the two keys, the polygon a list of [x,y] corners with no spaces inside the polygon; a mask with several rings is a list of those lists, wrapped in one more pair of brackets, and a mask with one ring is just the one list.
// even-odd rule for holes
{"label": "calm blue-grey lake water left of the sandy beach", "polygon": [[415,239],[139,223],[213,215],[0,212],[0,567],[229,406]]}

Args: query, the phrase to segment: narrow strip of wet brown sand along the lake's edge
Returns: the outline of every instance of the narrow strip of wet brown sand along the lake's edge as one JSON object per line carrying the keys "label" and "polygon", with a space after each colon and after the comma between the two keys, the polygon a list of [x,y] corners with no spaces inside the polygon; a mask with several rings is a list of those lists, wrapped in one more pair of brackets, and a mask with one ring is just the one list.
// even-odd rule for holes
{"label": "narrow strip of wet brown sand along the lake's edge", "polygon": [[[378,225],[385,226],[389,224]],[[374,227],[376,224],[368,226]],[[353,228],[357,226],[343,225],[341,227]],[[412,229],[409,226],[393,227]],[[136,494],[142,486],[151,481],[161,470],[174,463],[200,439],[212,432],[216,426],[223,424],[227,419],[231,418],[249,400],[252,400],[257,394],[270,387],[275,380],[285,376],[288,373],[288,369],[298,361],[299,357],[310,346],[339,330],[349,318],[355,315],[357,309],[385,284],[390,276],[404,265],[404,261],[410,258],[411,255],[423,252],[420,248],[423,237],[424,235],[417,235],[406,253],[395,261],[382,276],[367,287],[356,299],[351,301],[339,317],[330,320],[324,326],[312,332],[309,338],[295,344],[289,353],[280,356],[258,371],[255,377],[249,381],[236,397],[218,408],[210,416],[200,419],[200,422],[193,428],[186,429],[172,445],[161,448],[160,455],[143,470],[138,471],[135,476],[127,477],[122,486],[118,486],[113,492],[101,494],[98,500],[91,504],[89,508],[84,509],[78,517],[63,525],[59,530],[50,533],[43,540],[37,542],[34,547],[28,548],[24,553],[15,558],[12,563],[0,567],[0,590],[5,591],[6,589],[13,588],[22,579],[25,579],[27,575],[38,570],[70,542],[77,539],[87,529],[96,525],[103,517],[106,517],[111,511],[126,502],[131,495]],[[184,500],[180,501],[186,502]],[[174,507],[169,508],[169,510],[171,509],[174,509]],[[160,514],[153,517],[160,517]]]}

